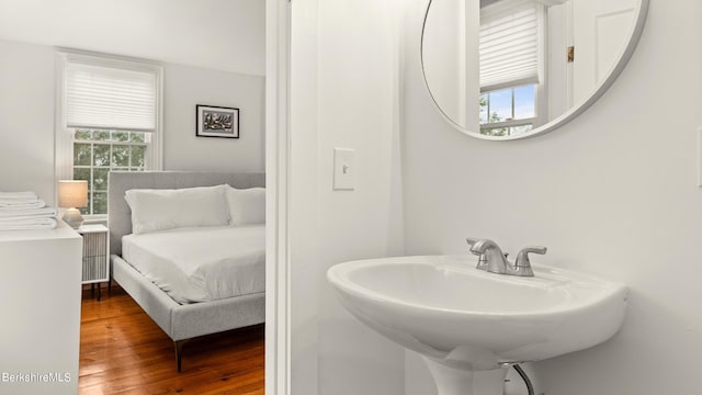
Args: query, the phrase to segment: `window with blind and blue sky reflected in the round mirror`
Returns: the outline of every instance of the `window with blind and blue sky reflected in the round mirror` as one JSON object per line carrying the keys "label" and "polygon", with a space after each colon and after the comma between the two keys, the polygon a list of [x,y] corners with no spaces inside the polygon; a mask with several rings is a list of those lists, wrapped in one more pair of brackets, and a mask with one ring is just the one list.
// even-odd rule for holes
{"label": "window with blind and blue sky reflected in the round mirror", "polygon": [[480,133],[510,136],[531,131],[545,113],[543,20],[530,0],[505,0],[480,9]]}

